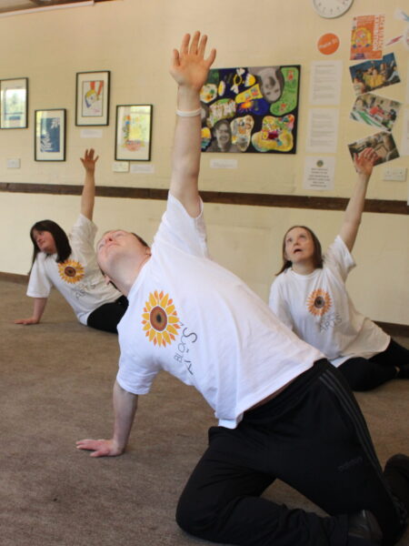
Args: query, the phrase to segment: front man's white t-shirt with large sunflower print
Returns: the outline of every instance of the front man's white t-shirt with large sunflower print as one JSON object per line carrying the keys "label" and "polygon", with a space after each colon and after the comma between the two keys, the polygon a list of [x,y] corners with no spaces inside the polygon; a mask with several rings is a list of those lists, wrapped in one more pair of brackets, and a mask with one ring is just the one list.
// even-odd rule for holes
{"label": "front man's white t-shirt with large sunflower print", "polygon": [[208,257],[203,214],[190,217],[172,195],[128,299],[118,325],[119,385],[145,394],[165,369],[195,386],[230,429],[323,358]]}

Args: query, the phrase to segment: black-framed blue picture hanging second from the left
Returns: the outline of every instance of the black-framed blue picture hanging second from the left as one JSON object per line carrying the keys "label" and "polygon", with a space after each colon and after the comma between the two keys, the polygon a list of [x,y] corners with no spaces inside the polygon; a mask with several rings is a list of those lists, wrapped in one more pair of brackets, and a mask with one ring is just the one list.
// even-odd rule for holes
{"label": "black-framed blue picture hanging second from the left", "polygon": [[65,108],[35,110],[35,161],[65,161]]}

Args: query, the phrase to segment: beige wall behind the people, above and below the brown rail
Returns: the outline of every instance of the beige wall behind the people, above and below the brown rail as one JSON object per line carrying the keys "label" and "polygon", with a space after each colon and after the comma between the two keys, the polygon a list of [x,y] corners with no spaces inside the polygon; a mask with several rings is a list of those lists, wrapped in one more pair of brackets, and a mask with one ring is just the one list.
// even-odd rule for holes
{"label": "beige wall behind the people, above and below the brown rail", "polygon": [[[72,8],[34,15],[0,18],[0,79],[29,78],[29,127],[0,131],[0,182],[80,184],[83,173],[78,160],[85,147],[100,154],[97,183],[121,187],[167,187],[170,146],[175,119],[175,85],[168,75],[171,51],[185,31],[200,28],[217,46],[215,66],[256,66],[296,63],[302,66],[300,122],[296,155],[232,156],[238,168],[210,168],[212,155],[202,157],[201,187],[208,190],[322,195],[349,197],[354,169],[346,144],[371,134],[370,127],[348,119],[354,102],[348,67],[348,44],[354,15],[384,13],[385,37],[402,34],[404,22],[394,18],[399,0],[355,0],[350,11],[338,19],[314,14],[309,0],[118,0],[94,7]],[[341,46],[326,57],[316,40],[334,32]],[[382,95],[404,103],[408,51],[403,44],[385,48],[394,52],[403,82],[382,90]],[[303,189],[306,119],[309,110],[309,76],[312,61],[344,61],[340,126],[336,153],[335,187],[331,192]],[[111,121],[102,127],[102,138],[83,138],[75,126],[75,73],[111,70]],[[116,174],[112,171],[115,142],[115,105],[154,105],[150,175]],[[404,104],[408,107],[408,104]],[[67,153],[64,163],[34,161],[34,110],[67,109]],[[401,116],[402,117],[402,116]],[[399,146],[402,119],[394,127]],[[6,159],[21,159],[20,169],[7,169]],[[407,157],[394,160],[406,167]],[[368,197],[407,199],[407,183],[382,180],[383,167],[376,167]],[[25,273],[31,248],[29,227],[51,217],[66,229],[75,220],[78,197],[0,193],[2,257],[0,271]],[[101,230],[129,227],[150,239],[165,207],[161,201],[99,198],[95,220]],[[286,227],[307,224],[324,245],[337,232],[342,214],[330,211],[267,207],[207,205],[211,252],[217,260],[244,278],[267,298],[274,271],[280,263],[281,239]],[[354,256],[358,261],[348,287],[356,307],[373,319],[408,323],[409,273],[407,217],[365,214]]]}

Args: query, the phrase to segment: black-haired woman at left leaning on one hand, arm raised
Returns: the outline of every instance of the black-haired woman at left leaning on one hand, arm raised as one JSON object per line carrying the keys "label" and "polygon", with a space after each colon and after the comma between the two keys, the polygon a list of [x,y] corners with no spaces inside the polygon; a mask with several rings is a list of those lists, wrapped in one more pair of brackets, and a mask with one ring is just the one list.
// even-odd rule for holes
{"label": "black-haired woman at left leaning on one hand, arm raised", "polygon": [[96,261],[94,241],[97,227],[92,221],[95,203],[94,149],[85,150],[81,161],[85,183],[81,212],[71,233],[53,220],[36,222],[30,230],[33,241],[33,264],[27,296],[34,298],[33,315],[15,320],[16,324],[37,324],[53,286],[74,309],[76,318],[85,326],[116,333],[128,302],[116,288],[106,284]]}

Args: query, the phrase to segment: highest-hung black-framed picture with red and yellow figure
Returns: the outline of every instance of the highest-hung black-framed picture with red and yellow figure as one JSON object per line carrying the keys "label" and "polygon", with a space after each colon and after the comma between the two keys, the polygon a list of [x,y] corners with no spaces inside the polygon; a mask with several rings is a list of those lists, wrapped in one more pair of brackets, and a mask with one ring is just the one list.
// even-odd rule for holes
{"label": "highest-hung black-framed picture with red and yellow figure", "polygon": [[109,70],[76,74],[76,126],[109,124],[110,75]]}

